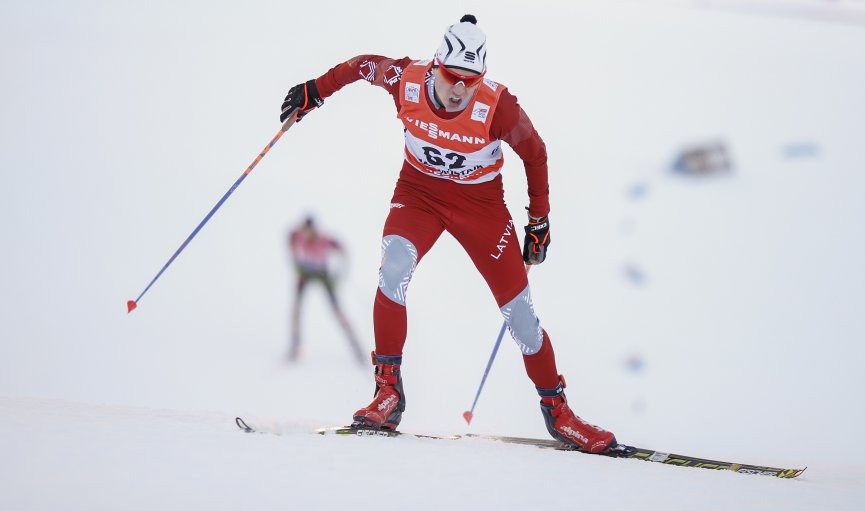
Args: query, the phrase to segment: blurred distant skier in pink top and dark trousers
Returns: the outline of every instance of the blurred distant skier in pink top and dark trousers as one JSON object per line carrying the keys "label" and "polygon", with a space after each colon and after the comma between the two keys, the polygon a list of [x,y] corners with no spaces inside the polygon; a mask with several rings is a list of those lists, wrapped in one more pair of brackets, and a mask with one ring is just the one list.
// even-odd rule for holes
{"label": "blurred distant skier in pink top and dark trousers", "polygon": [[289,233],[288,247],[297,274],[294,305],[291,310],[291,344],[288,349],[288,359],[295,362],[300,357],[301,305],[307,284],[310,281],[316,281],[320,282],[327,292],[330,306],[339,320],[340,326],[345,331],[352,354],[358,362],[363,363],[364,356],[360,343],[358,343],[348,318],[346,318],[339,306],[339,300],[336,298],[336,275],[329,268],[329,263],[335,254],[342,258],[343,264],[345,263],[347,258],[345,249],[335,239],[319,232],[315,226],[315,220],[311,216],[306,217],[300,226]]}

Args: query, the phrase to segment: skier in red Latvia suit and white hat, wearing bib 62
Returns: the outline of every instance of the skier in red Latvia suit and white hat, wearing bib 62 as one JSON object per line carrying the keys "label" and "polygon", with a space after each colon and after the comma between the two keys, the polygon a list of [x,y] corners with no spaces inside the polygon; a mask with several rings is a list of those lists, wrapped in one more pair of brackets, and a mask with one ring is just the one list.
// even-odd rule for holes
{"label": "skier in red Latvia suit and white hat, wearing bib 62", "polygon": [[[550,434],[590,452],[616,445],[609,431],[568,406],[565,380],[535,315],[525,264],[540,264],[550,244],[546,148],[507,88],[486,79],[486,36],[465,15],[451,25],[432,60],[360,55],[288,91],[280,121],[300,120],[325,98],[364,79],[394,100],[405,129],[405,161],[385,220],[375,327],[375,393],[353,427],[395,429],[405,410],[401,364],[406,289],[417,264],[443,231],[463,246],[490,287],[526,372],[540,395]],[[501,142],[523,160],[528,225],[522,254],[504,203]]]}

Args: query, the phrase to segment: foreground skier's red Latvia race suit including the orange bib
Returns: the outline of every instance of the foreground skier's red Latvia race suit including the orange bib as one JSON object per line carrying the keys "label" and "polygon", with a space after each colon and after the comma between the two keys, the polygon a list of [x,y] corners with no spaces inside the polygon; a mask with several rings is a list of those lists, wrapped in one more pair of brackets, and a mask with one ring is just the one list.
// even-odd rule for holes
{"label": "foreground skier's red Latvia race suit including the orange bib", "polygon": [[361,55],[316,79],[326,98],[358,80],[391,95],[405,126],[405,161],[385,222],[374,319],[376,353],[400,355],[405,293],[420,259],[447,230],[489,285],[539,388],[558,385],[549,338],[535,316],[520,241],[503,199],[501,141],[522,159],[529,214],[549,212],[546,148],[517,99],[484,79],[467,108],[447,112],[435,98],[430,61]]}

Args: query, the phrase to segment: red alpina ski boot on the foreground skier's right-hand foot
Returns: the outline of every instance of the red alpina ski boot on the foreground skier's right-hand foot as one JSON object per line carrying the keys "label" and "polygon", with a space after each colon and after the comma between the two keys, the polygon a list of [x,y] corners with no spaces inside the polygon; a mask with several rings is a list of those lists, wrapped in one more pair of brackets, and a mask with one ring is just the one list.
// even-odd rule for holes
{"label": "red alpina ski boot on the foreground skier's right-hand foot", "polygon": [[565,379],[559,375],[559,384],[552,389],[536,387],[541,396],[541,413],[547,424],[547,431],[553,438],[581,451],[599,453],[618,445],[616,437],[594,424],[577,417],[568,406],[565,397]]}

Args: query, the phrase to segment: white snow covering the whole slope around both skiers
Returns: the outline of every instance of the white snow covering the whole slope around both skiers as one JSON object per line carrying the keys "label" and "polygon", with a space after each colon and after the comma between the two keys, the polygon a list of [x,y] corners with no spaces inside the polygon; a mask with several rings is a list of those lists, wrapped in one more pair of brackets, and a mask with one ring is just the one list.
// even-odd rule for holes
{"label": "white snow covering the whole slope around both skiers", "polygon": [[[4,5],[0,509],[865,507],[865,27],[735,3]],[[548,147],[553,244],[530,280],[573,407],[626,443],[802,476],[311,433],[372,379],[319,290],[302,362],[283,360],[283,237],[311,211],[349,247],[341,297],[371,349],[402,139],[362,83],[293,127],[126,314],[289,86],[361,52],[427,57],[467,9]],[[670,171],[718,140],[729,175]],[[408,299],[402,429],[545,437],[507,338],[462,419],[501,317],[451,238]]]}

